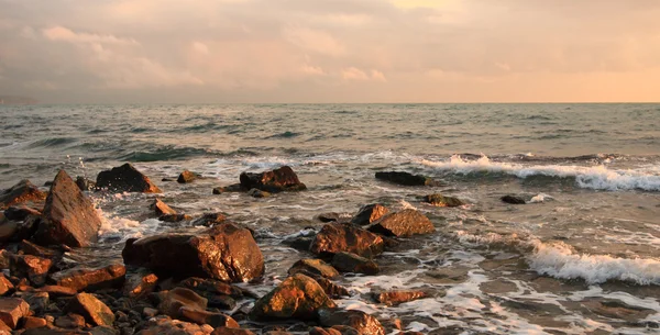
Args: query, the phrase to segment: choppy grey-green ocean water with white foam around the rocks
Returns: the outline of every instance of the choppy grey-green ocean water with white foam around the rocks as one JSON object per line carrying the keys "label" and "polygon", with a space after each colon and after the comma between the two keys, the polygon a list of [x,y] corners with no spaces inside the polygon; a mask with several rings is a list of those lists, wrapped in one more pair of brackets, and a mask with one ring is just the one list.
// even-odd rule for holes
{"label": "choppy grey-green ocean water with white foam around the rocks", "polygon": [[[660,104],[0,105],[0,188],[43,185],[59,168],[95,179],[131,161],[176,210],[252,227],[266,258],[263,282],[249,284],[258,292],[311,256],[282,239],[319,230],[320,213],[382,202],[418,209],[437,232],[378,257],[378,276],[345,276],[341,306],[422,333],[660,332]],[[309,190],[211,194],[283,165]],[[161,181],[184,169],[207,178]],[[381,170],[443,186],[388,185]],[[417,200],[435,192],[468,204]],[[101,242],[72,261],[113,261],[129,237],[182,228],[146,215],[154,194],[90,197]],[[436,293],[392,308],[371,301],[378,288]]]}

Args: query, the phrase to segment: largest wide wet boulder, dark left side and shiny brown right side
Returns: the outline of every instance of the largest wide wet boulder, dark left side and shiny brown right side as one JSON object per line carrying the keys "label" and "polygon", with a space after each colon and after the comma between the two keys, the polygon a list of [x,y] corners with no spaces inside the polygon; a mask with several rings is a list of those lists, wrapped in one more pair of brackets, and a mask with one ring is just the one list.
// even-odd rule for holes
{"label": "largest wide wet boulder, dark left side and shiny brown right side", "polygon": [[242,282],[264,273],[263,255],[252,234],[231,223],[195,234],[129,239],[122,256],[127,265],[180,277]]}

